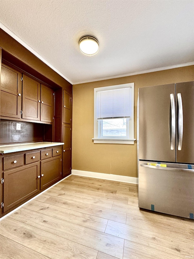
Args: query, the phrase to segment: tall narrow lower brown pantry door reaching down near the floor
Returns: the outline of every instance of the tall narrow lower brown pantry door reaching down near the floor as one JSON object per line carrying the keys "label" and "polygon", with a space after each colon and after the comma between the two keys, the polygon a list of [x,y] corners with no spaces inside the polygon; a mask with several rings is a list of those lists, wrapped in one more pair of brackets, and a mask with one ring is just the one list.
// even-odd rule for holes
{"label": "tall narrow lower brown pantry door reaching down near the floor", "polygon": [[71,126],[63,124],[63,177],[70,174],[71,167]]}

